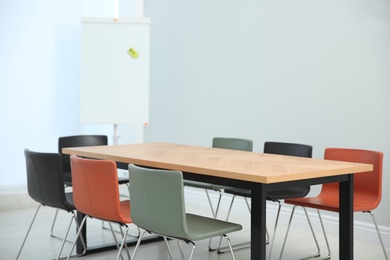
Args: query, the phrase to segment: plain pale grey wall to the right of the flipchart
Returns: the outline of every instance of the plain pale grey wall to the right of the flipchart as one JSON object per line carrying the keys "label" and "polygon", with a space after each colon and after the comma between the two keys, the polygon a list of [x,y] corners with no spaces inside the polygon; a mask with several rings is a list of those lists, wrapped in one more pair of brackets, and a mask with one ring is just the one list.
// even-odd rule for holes
{"label": "plain pale grey wall to the right of the flipchart", "polygon": [[[384,152],[390,226],[390,2],[147,0],[146,141],[214,136]],[[366,219],[361,215],[357,219]]]}

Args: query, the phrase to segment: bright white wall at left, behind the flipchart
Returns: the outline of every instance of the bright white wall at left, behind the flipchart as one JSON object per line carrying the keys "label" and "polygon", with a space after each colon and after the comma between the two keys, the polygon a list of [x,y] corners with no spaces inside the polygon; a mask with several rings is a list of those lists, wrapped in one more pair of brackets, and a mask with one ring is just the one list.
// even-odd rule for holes
{"label": "bright white wall at left, behind the flipchart", "polygon": [[[111,141],[111,125],[80,124],[79,87],[80,18],[114,17],[113,2],[0,1],[0,193],[25,189],[25,148],[57,152],[59,136],[86,133]],[[119,1],[119,18],[143,16],[141,3]],[[119,142],[137,131],[119,126]]]}

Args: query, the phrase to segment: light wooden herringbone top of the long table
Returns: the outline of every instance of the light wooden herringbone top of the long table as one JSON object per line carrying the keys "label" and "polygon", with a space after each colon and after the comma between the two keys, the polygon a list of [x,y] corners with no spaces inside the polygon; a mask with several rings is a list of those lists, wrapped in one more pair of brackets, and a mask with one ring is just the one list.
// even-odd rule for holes
{"label": "light wooden herringbone top of the long table", "polygon": [[265,184],[373,170],[371,164],[172,143],[64,148],[63,153]]}

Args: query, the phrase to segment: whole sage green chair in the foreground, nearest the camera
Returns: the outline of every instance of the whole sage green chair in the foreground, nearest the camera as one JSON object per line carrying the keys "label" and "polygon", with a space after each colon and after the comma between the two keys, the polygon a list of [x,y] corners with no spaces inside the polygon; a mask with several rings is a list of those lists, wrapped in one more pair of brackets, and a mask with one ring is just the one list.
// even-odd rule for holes
{"label": "whole sage green chair in the foreground, nearest the camera", "polygon": [[232,257],[235,259],[226,234],[239,231],[242,226],[186,213],[182,172],[142,168],[130,164],[129,180],[131,218],[135,225],[145,230],[138,239],[132,255],[133,260],[146,232],[164,237],[171,259],[173,256],[167,238],[178,241],[182,258],[184,258],[184,253],[180,241],[192,244],[189,258],[192,259],[195,250],[193,241],[224,236]]}

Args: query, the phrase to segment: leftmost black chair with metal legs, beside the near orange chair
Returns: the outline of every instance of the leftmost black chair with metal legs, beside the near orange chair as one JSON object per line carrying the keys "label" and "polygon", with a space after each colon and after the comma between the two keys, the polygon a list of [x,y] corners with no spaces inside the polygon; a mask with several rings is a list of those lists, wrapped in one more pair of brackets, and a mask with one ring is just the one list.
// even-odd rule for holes
{"label": "leftmost black chair with metal legs, beside the near orange chair", "polygon": [[[64,210],[72,214],[72,219],[63,239],[61,249],[58,252],[57,259],[59,259],[73,220],[78,226],[76,215],[74,213],[76,208],[73,204],[73,194],[71,192],[65,193],[61,156],[57,153],[37,153],[28,149],[24,150],[24,154],[26,158],[28,194],[33,200],[39,203],[39,206],[35,212],[30,227],[28,228],[16,259],[19,258],[20,253],[22,252],[41,206]],[[85,243],[82,237],[81,241],[84,246],[85,253]]]}

